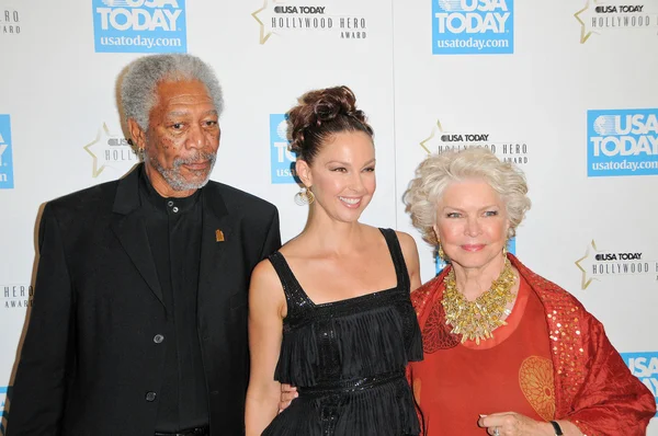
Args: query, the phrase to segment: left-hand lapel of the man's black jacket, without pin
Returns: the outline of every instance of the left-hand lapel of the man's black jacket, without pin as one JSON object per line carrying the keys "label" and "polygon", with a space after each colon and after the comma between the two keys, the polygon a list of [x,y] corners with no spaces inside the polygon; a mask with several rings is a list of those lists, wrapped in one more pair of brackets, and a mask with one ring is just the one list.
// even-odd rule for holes
{"label": "left-hand lapel of the man's black jacket, without pin", "polygon": [[113,208],[115,219],[111,227],[144,280],[162,302],[162,289],[150,251],[148,233],[138,214],[139,171],[140,165],[120,181]]}

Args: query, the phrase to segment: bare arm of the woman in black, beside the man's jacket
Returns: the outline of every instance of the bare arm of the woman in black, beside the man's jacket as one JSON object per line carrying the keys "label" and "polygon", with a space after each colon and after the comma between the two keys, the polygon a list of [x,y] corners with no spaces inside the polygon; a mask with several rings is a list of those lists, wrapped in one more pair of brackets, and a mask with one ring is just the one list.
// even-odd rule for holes
{"label": "bare arm of the woman in black, beside the man's jacket", "polygon": [[260,436],[276,416],[281,385],[274,370],[281,351],[285,296],[269,260],[259,263],[249,287],[249,351],[251,371],[247,389],[247,436]]}

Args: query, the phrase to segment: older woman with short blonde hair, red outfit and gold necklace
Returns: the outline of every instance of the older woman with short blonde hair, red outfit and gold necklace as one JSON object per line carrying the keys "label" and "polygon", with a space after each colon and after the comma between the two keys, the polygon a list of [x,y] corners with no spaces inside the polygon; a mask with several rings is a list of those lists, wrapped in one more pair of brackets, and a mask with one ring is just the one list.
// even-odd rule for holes
{"label": "older woman with short blonde hair, red outfit and gold necklace", "polygon": [[449,266],[412,292],[424,360],[408,377],[426,435],[644,435],[656,413],[603,325],[506,246],[530,209],[484,148],[428,157],[405,194]]}

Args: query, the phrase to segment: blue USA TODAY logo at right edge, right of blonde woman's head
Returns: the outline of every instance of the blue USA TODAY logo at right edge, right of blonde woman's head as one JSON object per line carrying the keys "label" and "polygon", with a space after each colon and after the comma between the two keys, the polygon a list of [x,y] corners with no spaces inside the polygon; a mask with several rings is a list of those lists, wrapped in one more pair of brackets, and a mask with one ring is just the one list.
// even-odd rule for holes
{"label": "blue USA TODAY logo at right edge, right of blonde woman's head", "polygon": [[658,108],[587,112],[587,175],[658,174]]}

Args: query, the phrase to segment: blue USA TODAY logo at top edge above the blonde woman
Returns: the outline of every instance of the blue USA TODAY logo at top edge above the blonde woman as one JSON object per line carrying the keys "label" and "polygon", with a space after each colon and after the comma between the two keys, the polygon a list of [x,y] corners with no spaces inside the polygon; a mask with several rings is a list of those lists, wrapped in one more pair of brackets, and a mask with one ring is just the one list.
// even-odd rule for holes
{"label": "blue USA TODAY logo at top edge above the blonde woman", "polygon": [[513,0],[431,0],[432,54],[514,53]]}

